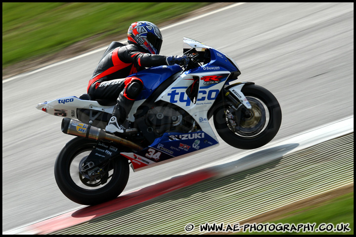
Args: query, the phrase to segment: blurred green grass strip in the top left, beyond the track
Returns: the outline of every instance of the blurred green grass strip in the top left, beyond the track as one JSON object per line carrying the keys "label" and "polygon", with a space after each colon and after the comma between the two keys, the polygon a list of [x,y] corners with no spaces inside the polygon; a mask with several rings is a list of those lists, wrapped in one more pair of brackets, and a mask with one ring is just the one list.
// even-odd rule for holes
{"label": "blurred green grass strip in the top left, beyond the track", "polygon": [[92,36],[125,35],[135,21],[158,25],[207,4],[209,2],[3,2],[2,68],[57,52]]}

